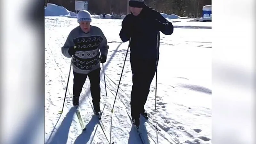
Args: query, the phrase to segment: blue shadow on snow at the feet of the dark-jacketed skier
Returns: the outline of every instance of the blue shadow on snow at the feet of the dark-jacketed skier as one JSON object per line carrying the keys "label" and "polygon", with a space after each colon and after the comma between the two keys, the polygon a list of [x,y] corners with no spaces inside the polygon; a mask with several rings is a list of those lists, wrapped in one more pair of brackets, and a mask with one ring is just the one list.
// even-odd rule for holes
{"label": "blue shadow on snow at the feet of the dark-jacketed skier", "polygon": [[[142,117],[142,116],[141,116]],[[148,131],[145,126],[145,118],[140,117],[140,128],[139,131],[141,132],[141,138],[144,144],[149,144],[148,140]],[[128,139],[128,144],[141,144],[140,136],[134,126],[132,126],[131,131],[129,132],[130,137]]]}

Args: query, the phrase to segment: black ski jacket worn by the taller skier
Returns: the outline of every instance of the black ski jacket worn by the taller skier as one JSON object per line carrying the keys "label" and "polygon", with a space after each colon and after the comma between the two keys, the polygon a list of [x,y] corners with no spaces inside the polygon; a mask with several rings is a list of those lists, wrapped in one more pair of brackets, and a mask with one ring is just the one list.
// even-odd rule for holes
{"label": "black ski jacket worn by the taller skier", "polygon": [[123,42],[130,41],[130,59],[158,60],[161,31],[165,35],[173,33],[173,25],[159,12],[144,5],[138,16],[129,13],[122,21],[119,36]]}

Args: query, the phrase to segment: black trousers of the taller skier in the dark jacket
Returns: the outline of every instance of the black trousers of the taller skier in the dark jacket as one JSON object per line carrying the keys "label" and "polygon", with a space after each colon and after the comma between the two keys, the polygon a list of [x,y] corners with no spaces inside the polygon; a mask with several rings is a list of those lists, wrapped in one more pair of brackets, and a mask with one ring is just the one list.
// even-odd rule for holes
{"label": "black trousers of the taller skier in the dark jacket", "polygon": [[131,116],[139,118],[144,112],[150,84],[156,73],[156,60],[130,59],[132,68]]}

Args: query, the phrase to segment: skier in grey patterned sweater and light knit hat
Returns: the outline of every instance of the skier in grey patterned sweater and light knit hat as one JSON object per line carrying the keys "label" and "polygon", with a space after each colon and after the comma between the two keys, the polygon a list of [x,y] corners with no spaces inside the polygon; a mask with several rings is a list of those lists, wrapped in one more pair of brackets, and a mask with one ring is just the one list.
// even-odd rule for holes
{"label": "skier in grey patterned sweater and light knit hat", "polygon": [[79,106],[79,97],[87,76],[90,79],[92,103],[95,113],[100,112],[100,62],[105,63],[108,42],[100,28],[91,26],[91,14],[81,10],[77,14],[79,26],[71,30],[61,48],[67,58],[73,56],[73,105]]}

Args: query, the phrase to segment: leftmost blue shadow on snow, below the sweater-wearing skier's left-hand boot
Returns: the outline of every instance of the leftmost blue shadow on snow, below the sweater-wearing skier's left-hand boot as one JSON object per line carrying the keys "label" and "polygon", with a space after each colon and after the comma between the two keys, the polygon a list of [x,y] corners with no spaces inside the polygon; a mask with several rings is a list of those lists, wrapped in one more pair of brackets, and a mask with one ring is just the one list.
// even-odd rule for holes
{"label": "leftmost blue shadow on snow, below the sweater-wearing skier's left-hand boot", "polygon": [[64,117],[63,121],[60,124],[60,127],[55,132],[54,136],[47,144],[57,144],[57,143],[67,143],[68,133],[71,123],[73,121],[74,114],[76,112],[76,108],[72,107],[67,113],[66,117]]}

